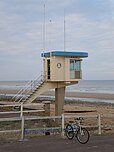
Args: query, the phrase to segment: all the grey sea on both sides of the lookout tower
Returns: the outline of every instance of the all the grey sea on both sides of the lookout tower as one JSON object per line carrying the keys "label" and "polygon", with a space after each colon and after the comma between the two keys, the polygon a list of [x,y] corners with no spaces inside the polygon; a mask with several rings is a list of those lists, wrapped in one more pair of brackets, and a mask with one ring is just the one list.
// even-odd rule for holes
{"label": "all the grey sea on both sides of the lookout tower", "polygon": [[[32,81],[31,81],[32,82]],[[0,90],[21,90],[28,81],[0,81]],[[80,80],[78,84],[68,86],[66,91],[69,92],[87,92],[87,93],[108,93],[114,94],[114,80]],[[52,97],[53,98],[53,97]],[[114,100],[94,99],[94,98],[66,98],[71,101],[88,101],[113,103]]]}

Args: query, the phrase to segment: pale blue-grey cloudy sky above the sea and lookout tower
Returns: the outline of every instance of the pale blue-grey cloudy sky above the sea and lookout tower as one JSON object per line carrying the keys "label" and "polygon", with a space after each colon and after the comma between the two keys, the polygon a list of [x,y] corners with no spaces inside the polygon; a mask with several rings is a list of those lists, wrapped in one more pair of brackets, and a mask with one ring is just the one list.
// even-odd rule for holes
{"label": "pale blue-grey cloudy sky above the sea and lookout tower", "polygon": [[114,0],[0,0],[0,81],[32,80],[45,52],[88,52],[84,80],[114,80]]}

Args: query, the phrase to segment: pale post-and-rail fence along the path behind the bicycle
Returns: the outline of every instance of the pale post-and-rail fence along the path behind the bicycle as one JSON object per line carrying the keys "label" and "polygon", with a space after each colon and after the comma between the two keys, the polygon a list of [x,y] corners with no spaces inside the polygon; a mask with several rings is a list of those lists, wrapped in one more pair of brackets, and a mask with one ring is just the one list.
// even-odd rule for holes
{"label": "pale post-and-rail fence along the path behind the bicycle", "polygon": [[[68,116],[65,116],[64,114],[62,114],[61,116],[24,116],[23,115],[23,111],[22,110],[23,108],[21,108],[21,114],[20,114],[20,117],[11,117],[11,118],[0,118],[0,122],[9,122],[9,121],[20,121],[21,123],[21,128],[20,129],[17,129],[17,130],[2,130],[0,131],[0,133],[3,133],[3,132],[20,132],[21,133],[21,139],[23,140],[24,137],[25,137],[25,134],[26,133],[29,133],[29,132],[36,132],[36,133],[41,133],[41,132],[46,132],[46,131],[53,131],[54,130],[59,130],[61,132],[61,135],[64,136],[64,129],[65,129],[65,121],[66,119],[69,119],[69,118],[78,118],[78,117],[83,117],[83,118],[91,118],[92,120],[95,119],[96,120],[96,124],[94,125],[82,125],[86,128],[93,128],[95,127],[96,129],[98,129],[98,134],[102,134],[102,129],[104,127],[111,127],[111,128],[114,128],[114,125],[111,125],[111,124],[108,124],[108,125],[104,125],[102,124],[102,119],[101,118],[114,118],[114,114],[105,114],[105,115],[100,115],[100,114],[95,114],[95,115],[75,115],[75,116],[71,116],[71,115],[68,115]],[[37,110],[36,110],[37,111]],[[35,112],[35,111],[34,111]],[[1,114],[3,114],[3,112],[0,112]],[[5,113],[4,113],[5,114]],[[28,121],[28,120],[37,120],[37,122],[39,120],[50,120],[50,119],[60,119],[61,121],[61,125],[59,127],[55,126],[55,127],[51,127],[51,126],[48,126],[48,128],[44,128],[42,126],[42,128],[26,128],[25,127],[25,122]],[[48,121],[49,122],[49,121]]]}

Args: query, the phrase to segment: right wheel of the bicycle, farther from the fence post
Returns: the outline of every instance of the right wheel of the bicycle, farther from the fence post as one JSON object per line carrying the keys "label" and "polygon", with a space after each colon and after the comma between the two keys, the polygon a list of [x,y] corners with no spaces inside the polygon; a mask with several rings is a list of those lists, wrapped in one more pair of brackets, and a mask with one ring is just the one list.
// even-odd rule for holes
{"label": "right wheel of the bicycle, farther from the fence post", "polygon": [[76,134],[76,137],[77,137],[77,140],[81,143],[81,144],[86,144],[89,140],[89,132],[87,129],[85,128],[81,128],[81,130],[79,129],[77,131],[77,134]]}

